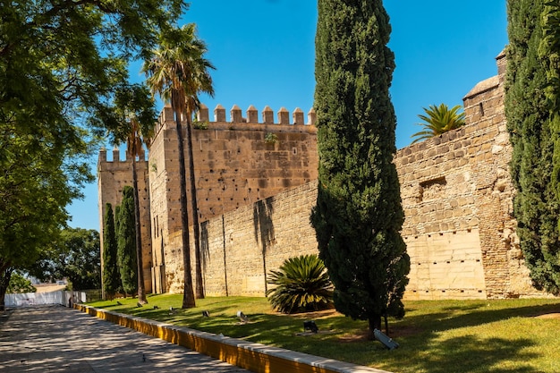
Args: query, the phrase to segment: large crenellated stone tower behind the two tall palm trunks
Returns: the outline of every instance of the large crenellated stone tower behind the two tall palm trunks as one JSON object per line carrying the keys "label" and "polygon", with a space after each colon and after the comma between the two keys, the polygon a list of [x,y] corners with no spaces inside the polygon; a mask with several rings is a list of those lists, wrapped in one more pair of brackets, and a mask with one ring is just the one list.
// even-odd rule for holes
{"label": "large crenellated stone tower behind the two tall palm trunks", "polygon": [[[228,121],[225,108],[218,105],[210,121],[208,107],[201,106],[192,131],[200,222],[317,179],[315,113],[311,110],[304,123],[303,112],[296,108],[290,119],[284,107],[275,121],[273,110],[266,106],[259,121],[254,106],[243,116],[234,105]],[[181,286],[177,281],[177,276],[182,277],[182,244],[176,139],[173,110],[165,106],[148,157],[154,292],[178,292]],[[187,195],[190,200],[189,182]]]}

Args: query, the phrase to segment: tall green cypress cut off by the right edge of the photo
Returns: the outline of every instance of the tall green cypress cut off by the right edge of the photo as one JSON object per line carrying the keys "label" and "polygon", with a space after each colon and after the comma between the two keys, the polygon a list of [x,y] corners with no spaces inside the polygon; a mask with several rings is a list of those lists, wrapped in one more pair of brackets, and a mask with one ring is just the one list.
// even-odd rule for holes
{"label": "tall green cypress cut off by the right edge of the photo", "polygon": [[533,284],[560,293],[560,238],[553,176],[557,129],[547,100],[547,56],[543,41],[543,0],[508,0],[505,116],[513,145],[512,178],[517,189],[513,214]]}

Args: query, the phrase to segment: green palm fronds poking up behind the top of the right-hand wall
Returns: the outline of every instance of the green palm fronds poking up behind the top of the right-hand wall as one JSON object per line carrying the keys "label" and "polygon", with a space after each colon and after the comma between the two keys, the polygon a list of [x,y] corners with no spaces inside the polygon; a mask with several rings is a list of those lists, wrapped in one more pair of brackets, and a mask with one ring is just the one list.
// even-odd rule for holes
{"label": "green palm fronds poking up behind the top of the right-hand wall", "polygon": [[418,116],[424,123],[417,124],[423,126],[424,130],[416,132],[411,136],[412,138],[416,137],[412,144],[462,127],[465,123],[465,114],[459,113],[461,108],[462,106],[457,105],[449,109],[445,104],[440,106],[430,105],[428,109],[423,107],[426,115],[418,114]]}

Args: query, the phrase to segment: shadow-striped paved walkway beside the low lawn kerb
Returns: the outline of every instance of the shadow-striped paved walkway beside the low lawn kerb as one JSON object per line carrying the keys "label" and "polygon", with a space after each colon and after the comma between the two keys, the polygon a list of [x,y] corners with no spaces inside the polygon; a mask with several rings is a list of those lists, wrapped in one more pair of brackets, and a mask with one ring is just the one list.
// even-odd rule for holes
{"label": "shadow-striped paved walkway beside the low lawn kerb", "polygon": [[0,322],[0,372],[154,371],[249,372],[77,309],[15,309]]}

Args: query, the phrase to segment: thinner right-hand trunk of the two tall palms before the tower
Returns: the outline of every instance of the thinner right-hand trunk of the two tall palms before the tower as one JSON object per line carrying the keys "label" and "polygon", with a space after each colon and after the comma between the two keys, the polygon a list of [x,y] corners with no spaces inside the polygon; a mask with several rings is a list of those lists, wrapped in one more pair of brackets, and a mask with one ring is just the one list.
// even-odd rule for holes
{"label": "thinner right-hand trunk of the two tall palms before the tower", "polygon": [[192,131],[191,114],[187,113],[187,144],[189,146],[189,172],[191,181],[191,207],[192,207],[192,228],[194,233],[194,263],[196,276],[196,297],[204,299],[204,284],[202,282],[202,262],[200,260],[200,225],[199,225],[199,203],[197,199],[197,185],[194,175],[194,158],[192,156]]}

